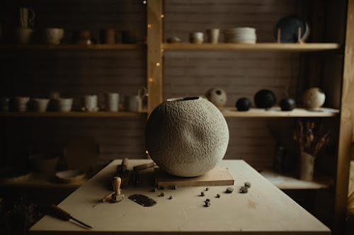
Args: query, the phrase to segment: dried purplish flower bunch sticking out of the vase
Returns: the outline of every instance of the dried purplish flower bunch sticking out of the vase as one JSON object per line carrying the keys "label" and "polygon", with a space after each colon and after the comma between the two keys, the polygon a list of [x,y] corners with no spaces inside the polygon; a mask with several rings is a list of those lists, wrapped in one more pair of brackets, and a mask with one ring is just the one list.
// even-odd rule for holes
{"label": "dried purplish flower bunch sticking out of the vase", "polygon": [[322,147],[329,143],[329,133],[329,130],[326,132],[322,130],[322,124],[317,127],[315,122],[297,120],[293,138],[299,144],[300,151],[316,157]]}

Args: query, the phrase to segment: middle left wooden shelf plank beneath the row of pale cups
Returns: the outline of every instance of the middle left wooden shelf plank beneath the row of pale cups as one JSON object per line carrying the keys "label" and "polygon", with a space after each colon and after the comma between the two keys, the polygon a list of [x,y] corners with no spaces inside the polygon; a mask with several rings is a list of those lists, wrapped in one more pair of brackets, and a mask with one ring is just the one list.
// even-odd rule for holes
{"label": "middle left wooden shelf plank beneath the row of pale cups", "polygon": [[147,112],[133,113],[133,112],[8,112],[0,113],[0,117],[139,117],[147,115]]}

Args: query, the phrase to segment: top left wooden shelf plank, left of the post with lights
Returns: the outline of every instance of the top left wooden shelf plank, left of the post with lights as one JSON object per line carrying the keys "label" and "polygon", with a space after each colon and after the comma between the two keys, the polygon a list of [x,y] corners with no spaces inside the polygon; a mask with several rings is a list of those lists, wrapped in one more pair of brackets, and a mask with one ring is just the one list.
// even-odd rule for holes
{"label": "top left wooden shelf plank, left of the post with lights", "polygon": [[142,50],[143,44],[0,45],[0,50]]}

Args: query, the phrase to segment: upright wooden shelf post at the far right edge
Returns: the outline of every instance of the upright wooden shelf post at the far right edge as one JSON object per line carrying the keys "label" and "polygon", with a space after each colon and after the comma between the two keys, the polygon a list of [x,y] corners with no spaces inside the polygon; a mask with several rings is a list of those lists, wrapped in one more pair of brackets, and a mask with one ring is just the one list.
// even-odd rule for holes
{"label": "upright wooden shelf post at the far right edge", "polygon": [[354,0],[348,1],[346,25],[346,47],[343,65],[343,84],[341,96],[341,124],[339,126],[338,161],[336,173],[336,195],[333,221],[333,234],[341,234],[346,222],[350,158],[353,142],[354,117]]}

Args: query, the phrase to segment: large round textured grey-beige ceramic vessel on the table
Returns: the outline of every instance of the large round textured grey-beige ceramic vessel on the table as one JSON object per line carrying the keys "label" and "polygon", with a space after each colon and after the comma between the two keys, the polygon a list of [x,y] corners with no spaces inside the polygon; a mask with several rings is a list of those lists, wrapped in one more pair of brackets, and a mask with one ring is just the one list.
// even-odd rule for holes
{"label": "large round textured grey-beige ceramic vessel on the table", "polygon": [[145,142],[161,170],[173,176],[201,176],[224,157],[229,128],[219,109],[207,99],[173,98],[150,115]]}

